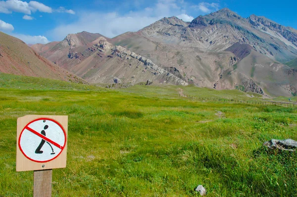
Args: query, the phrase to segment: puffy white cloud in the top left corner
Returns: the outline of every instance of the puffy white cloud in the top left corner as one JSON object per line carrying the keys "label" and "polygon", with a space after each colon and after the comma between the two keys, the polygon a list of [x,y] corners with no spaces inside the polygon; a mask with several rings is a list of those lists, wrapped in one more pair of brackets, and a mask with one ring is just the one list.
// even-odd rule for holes
{"label": "puffy white cloud in the top left corner", "polygon": [[40,12],[52,12],[52,9],[49,6],[37,1],[30,1],[29,3],[21,0],[0,1],[0,12],[5,14],[14,11],[30,15],[31,11],[36,12],[37,10]]}

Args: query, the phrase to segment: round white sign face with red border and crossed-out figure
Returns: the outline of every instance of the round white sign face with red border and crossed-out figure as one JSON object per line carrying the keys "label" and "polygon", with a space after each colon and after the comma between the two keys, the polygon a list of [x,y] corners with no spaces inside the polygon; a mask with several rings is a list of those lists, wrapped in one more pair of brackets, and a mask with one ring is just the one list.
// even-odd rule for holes
{"label": "round white sign face with red border and crossed-out figure", "polygon": [[18,147],[25,157],[34,162],[55,159],[66,145],[63,126],[51,118],[38,118],[29,122],[22,130]]}

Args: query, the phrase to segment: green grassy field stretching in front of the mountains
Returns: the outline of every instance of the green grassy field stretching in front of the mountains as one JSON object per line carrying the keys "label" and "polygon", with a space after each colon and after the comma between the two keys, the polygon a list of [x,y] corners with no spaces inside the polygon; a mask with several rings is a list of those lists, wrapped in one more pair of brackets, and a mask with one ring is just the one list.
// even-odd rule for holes
{"label": "green grassy field stretching in front of the mountains", "polygon": [[[294,197],[297,107],[202,102],[184,93],[245,98],[240,91],[134,86],[107,90],[0,75],[0,197],[30,197],[33,172],[16,172],[16,120],[68,115],[67,167],[53,170],[53,197]],[[4,80],[3,80],[4,79]]]}

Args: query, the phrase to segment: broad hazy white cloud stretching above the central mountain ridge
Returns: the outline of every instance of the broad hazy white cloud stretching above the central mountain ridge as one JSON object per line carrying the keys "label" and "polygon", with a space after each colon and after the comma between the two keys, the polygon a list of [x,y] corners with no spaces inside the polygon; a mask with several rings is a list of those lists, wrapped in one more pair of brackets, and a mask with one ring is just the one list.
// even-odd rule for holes
{"label": "broad hazy white cloud stretching above the central mountain ridge", "polygon": [[125,32],[138,31],[163,17],[179,16],[190,21],[193,17],[186,14],[185,6],[182,0],[158,0],[143,10],[122,15],[118,12],[81,11],[76,22],[59,25],[49,35],[53,35],[54,40],[63,40],[67,34],[87,31],[113,38]]}

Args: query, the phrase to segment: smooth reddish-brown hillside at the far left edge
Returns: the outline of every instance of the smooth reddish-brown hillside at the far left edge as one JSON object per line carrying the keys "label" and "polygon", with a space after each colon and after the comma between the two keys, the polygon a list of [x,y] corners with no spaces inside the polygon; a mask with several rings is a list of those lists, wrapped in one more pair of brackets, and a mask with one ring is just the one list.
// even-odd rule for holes
{"label": "smooth reddish-brown hillside at the far left edge", "polygon": [[86,83],[80,77],[54,65],[23,41],[0,32],[0,72]]}

